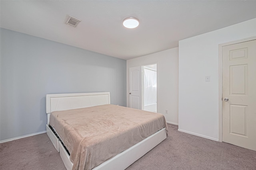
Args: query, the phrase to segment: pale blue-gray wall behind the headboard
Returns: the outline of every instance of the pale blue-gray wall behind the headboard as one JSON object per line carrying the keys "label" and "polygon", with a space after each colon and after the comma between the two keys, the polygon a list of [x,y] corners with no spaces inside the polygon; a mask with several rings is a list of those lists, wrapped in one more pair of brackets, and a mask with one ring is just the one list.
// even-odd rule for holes
{"label": "pale blue-gray wall behind the headboard", "polygon": [[110,92],[111,104],[126,106],[125,60],[8,29],[0,35],[0,141],[46,130],[46,94]]}

